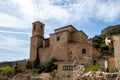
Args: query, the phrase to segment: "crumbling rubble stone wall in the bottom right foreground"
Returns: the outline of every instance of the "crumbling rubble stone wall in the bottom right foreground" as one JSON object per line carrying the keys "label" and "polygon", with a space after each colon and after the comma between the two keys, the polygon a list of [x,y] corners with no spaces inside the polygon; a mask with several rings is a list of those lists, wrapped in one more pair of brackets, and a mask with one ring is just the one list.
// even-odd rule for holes
{"label": "crumbling rubble stone wall in the bottom right foreground", "polygon": [[91,71],[85,73],[85,67],[80,61],[75,61],[73,65],[73,80],[120,80],[120,72],[107,73],[102,71]]}

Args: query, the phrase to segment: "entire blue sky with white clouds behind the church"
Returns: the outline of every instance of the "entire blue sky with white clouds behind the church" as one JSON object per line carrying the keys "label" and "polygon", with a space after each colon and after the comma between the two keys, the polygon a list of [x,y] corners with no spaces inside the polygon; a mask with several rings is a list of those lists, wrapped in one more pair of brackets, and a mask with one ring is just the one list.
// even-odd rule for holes
{"label": "entire blue sky with white clouds behind the church", "polygon": [[28,59],[32,22],[45,24],[45,37],[72,24],[89,38],[120,24],[120,0],[1,0],[0,62]]}

